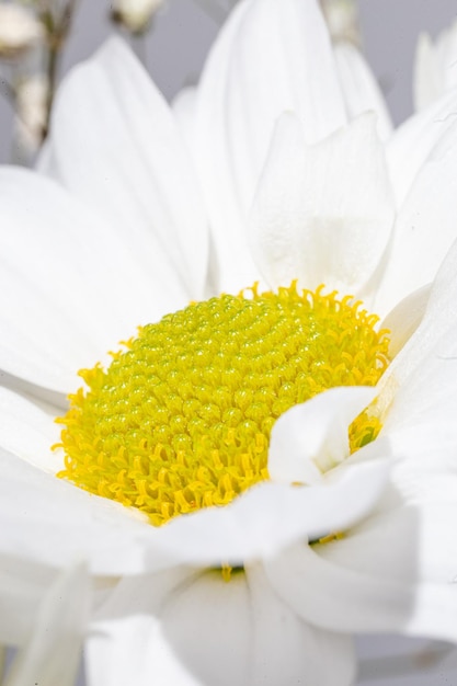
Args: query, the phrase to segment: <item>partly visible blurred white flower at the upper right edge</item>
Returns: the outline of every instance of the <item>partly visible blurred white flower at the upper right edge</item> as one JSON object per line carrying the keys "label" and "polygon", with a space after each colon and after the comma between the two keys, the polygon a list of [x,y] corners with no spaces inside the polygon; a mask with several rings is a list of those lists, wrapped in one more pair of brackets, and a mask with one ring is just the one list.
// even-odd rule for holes
{"label": "partly visible blurred white flower at the upper right edge", "polygon": [[414,106],[419,112],[457,85],[457,22],[436,41],[422,33],[414,62]]}

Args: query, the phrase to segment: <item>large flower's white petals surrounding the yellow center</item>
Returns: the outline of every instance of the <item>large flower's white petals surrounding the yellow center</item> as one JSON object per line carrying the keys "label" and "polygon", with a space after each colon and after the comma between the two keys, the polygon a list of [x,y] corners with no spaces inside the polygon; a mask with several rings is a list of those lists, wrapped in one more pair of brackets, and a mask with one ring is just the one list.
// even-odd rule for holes
{"label": "large flower's white petals surrounding the yellow center", "polygon": [[[119,42],[73,71],[41,163],[54,180],[0,171],[0,368],[10,386],[0,393],[0,643],[26,641],[39,598],[81,556],[95,593],[89,684],[341,686],[354,674],[349,633],[456,640],[455,251],[432,294],[416,293],[456,235],[453,106],[449,95],[384,147],[382,114],[378,129],[373,115],[357,116],[382,113],[369,72],[353,48],[332,52],[302,0],[242,2],[175,115]],[[325,283],[381,315],[413,291],[388,319],[391,355],[403,347],[376,388],[333,388],[283,413],[270,481],[226,506],[155,527],[55,477],[54,418],[80,384],[77,369],[137,324],[255,279],[259,290]],[[380,433],[350,456],[349,427],[375,396],[368,414]],[[217,398],[199,410],[215,411]],[[85,439],[92,450],[99,435]],[[98,457],[92,472],[106,461]],[[121,467],[108,487],[136,479],[132,504],[142,507],[157,481],[173,487],[173,470],[152,488],[137,457],[137,475]],[[123,459],[121,449],[107,462]]]}

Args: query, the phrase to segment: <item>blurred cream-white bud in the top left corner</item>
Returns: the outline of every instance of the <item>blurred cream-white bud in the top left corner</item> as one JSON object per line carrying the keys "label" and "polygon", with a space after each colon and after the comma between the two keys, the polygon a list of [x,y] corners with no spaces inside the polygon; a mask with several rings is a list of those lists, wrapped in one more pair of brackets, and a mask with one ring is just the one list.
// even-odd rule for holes
{"label": "blurred cream-white bud in the top left corner", "polygon": [[42,24],[25,8],[0,3],[0,57],[20,57],[43,37]]}

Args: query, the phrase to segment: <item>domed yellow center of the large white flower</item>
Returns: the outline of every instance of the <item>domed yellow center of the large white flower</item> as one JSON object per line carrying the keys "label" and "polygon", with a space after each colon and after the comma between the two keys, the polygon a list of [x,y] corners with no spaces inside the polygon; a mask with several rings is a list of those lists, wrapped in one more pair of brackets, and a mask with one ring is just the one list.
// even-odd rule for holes
{"label": "domed yellow center of the large white flower", "polygon": [[[296,284],[222,295],[139,329],[107,369],[79,374],[59,477],[145,512],[151,524],[226,505],[269,479],[270,433],[290,407],[335,386],[374,386],[386,332],[351,297]],[[361,414],[351,449],[372,441]]]}

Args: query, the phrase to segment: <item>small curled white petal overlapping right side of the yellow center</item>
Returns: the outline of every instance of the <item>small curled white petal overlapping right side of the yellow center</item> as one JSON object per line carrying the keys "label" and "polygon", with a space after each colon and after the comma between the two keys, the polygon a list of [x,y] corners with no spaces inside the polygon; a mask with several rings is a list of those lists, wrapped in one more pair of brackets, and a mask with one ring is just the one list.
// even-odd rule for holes
{"label": "small curled white petal overlapping right side of the yellow center", "polygon": [[281,483],[319,483],[350,454],[349,426],[374,388],[332,388],[284,412],[272,430],[269,473]]}

